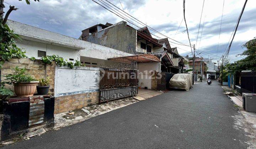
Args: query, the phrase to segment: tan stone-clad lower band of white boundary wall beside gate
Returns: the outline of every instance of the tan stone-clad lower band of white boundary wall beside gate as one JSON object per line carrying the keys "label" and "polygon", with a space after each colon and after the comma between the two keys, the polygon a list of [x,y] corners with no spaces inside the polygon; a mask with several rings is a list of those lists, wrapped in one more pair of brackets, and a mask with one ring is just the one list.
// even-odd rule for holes
{"label": "tan stone-clad lower band of white boundary wall beside gate", "polygon": [[98,104],[99,92],[55,97],[54,114]]}

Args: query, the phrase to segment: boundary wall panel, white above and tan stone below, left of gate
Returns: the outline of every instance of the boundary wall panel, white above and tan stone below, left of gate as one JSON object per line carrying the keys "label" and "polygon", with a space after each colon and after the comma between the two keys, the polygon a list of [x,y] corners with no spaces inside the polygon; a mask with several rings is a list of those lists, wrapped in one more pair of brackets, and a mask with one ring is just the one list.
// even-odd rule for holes
{"label": "boundary wall panel, white above and tan stone below, left of gate", "polygon": [[98,104],[99,68],[55,68],[55,109],[61,113]]}

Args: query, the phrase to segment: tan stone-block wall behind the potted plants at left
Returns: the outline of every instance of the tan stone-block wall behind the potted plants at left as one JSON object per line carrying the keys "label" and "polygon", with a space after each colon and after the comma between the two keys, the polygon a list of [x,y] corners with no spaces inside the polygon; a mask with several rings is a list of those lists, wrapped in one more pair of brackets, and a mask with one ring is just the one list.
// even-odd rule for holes
{"label": "tan stone-block wall behind the potted plants at left", "polygon": [[[12,74],[14,71],[11,68],[18,66],[20,68],[26,68],[26,74],[31,75],[33,78],[46,78],[46,64],[41,60],[34,60],[28,58],[10,59],[6,61],[1,68],[1,81],[4,81],[4,75]],[[14,90],[13,85],[7,85],[6,88]]]}

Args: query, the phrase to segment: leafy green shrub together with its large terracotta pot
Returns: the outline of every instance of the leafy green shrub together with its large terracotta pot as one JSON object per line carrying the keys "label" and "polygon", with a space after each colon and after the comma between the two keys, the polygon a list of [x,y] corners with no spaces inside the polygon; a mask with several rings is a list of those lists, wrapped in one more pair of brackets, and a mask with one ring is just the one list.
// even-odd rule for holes
{"label": "leafy green shrub together with its large terracotta pot", "polygon": [[26,68],[19,68],[16,66],[11,70],[13,70],[14,73],[4,76],[6,77],[4,83],[14,85],[14,93],[17,97],[33,96],[36,91],[38,81],[36,81],[32,76],[25,74]]}

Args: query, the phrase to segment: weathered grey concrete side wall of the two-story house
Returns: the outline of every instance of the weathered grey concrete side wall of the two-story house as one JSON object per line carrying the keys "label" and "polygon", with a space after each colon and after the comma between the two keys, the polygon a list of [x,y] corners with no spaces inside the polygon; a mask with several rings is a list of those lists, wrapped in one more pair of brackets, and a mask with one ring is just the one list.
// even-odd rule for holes
{"label": "weathered grey concrete side wall of the two-story house", "polygon": [[99,44],[130,54],[136,53],[136,29],[126,26],[126,22],[121,21],[95,34],[87,36],[87,42]]}

